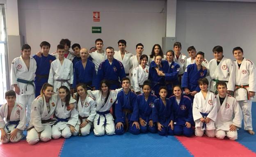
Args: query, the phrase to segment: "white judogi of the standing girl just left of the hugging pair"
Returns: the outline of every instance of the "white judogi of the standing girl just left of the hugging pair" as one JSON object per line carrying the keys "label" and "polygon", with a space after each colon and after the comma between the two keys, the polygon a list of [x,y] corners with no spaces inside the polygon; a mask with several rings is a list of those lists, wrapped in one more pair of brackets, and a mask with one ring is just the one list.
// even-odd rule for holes
{"label": "white judogi of the standing girl just left of the hugging pair", "polygon": [[146,65],[146,67],[143,69],[141,65],[137,66],[135,69],[133,69],[133,76],[132,76],[132,84],[133,89],[135,92],[141,92],[142,88],[140,86],[143,85],[144,81],[148,80],[149,78],[149,66]]}

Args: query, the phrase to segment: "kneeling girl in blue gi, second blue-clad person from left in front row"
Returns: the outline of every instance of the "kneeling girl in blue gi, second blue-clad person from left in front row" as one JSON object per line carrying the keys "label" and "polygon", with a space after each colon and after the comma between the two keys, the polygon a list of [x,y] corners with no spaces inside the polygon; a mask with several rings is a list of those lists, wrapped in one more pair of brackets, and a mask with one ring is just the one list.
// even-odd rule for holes
{"label": "kneeling girl in blue gi, second blue-clad person from left in front row", "polygon": [[137,96],[137,102],[139,106],[139,124],[140,132],[151,133],[157,132],[157,126],[153,124],[152,120],[152,108],[154,106],[154,101],[157,97],[151,94],[151,85],[149,81],[145,81],[142,85],[143,93]]}

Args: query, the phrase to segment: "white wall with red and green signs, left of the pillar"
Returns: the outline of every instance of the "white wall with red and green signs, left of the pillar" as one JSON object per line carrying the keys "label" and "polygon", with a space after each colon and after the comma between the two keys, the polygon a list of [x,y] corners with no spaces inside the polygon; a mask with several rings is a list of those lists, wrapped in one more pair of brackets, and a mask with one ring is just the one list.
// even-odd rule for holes
{"label": "white wall with red and green signs, left of the pillar", "polygon": [[[165,16],[159,13],[164,7],[165,1],[159,0],[18,0],[20,33],[33,53],[43,40],[55,51],[62,38],[87,48],[101,38],[105,47],[114,49],[124,39],[133,54],[141,42],[149,54],[165,36]],[[93,22],[93,11],[100,11],[101,22]],[[92,34],[92,26],[101,26],[102,33]]]}

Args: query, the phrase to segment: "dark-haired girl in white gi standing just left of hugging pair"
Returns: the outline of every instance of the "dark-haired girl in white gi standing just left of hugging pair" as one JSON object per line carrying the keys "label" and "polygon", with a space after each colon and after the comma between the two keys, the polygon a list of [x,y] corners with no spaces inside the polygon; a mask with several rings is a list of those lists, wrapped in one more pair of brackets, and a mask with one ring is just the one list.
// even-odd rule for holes
{"label": "dark-haired girl in white gi standing just left of hugging pair", "polygon": [[139,62],[139,66],[133,69],[132,72],[132,84],[136,94],[143,93],[142,85],[144,81],[148,80],[149,78],[149,66],[146,65],[148,62],[148,56],[141,55],[139,57]]}

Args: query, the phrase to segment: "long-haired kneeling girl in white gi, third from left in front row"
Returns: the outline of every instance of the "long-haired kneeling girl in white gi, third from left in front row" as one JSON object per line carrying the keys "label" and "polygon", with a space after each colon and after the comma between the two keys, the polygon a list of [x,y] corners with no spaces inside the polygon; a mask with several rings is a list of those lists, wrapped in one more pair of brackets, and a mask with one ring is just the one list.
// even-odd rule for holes
{"label": "long-haired kneeling girl in white gi, third from left in front row", "polygon": [[69,88],[66,86],[59,87],[59,98],[55,109],[56,122],[53,124],[52,137],[58,139],[64,137],[65,139],[71,137],[73,134],[78,135],[78,129],[75,125],[78,123],[78,112],[76,109],[72,110],[69,104],[75,104],[75,100],[71,97]]}

